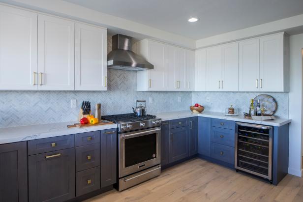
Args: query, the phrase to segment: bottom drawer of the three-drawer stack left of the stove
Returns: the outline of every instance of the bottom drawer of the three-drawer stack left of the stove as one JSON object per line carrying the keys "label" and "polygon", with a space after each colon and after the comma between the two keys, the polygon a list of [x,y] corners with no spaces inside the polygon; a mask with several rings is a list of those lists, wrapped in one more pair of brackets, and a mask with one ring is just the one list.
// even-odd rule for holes
{"label": "bottom drawer of the three-drawer stack left of the stove", "polygon": [[76,173],[76,196],[100,189],[100,167]]}

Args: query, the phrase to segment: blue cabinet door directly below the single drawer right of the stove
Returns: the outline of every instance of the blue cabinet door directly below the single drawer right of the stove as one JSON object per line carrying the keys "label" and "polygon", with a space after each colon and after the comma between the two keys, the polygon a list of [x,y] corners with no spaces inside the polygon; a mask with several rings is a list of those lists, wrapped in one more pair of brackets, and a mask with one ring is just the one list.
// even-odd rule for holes
{"label": "blue cabinet door directly below the single drawer right of the stove", "polygon": [[188,127],[170,129],[169,135],[169,163],[188,157]]}

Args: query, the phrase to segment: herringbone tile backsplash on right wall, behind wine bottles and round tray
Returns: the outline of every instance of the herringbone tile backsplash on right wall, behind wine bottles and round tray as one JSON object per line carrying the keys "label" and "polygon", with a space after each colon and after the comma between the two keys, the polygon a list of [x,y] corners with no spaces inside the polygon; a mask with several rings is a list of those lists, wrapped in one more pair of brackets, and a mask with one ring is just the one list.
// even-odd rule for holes
{"label": "herringbone tile backsplash on right wall, behind wine bottles and round tray", "polygon": [[192,103],[200,103],[205,110],[213,112],[224,112],[232,104],[242,114],[248,112],[250,99],[260,94],[269,94],[277,101],[275,116],[288,118],[288,92],[192,92]]}

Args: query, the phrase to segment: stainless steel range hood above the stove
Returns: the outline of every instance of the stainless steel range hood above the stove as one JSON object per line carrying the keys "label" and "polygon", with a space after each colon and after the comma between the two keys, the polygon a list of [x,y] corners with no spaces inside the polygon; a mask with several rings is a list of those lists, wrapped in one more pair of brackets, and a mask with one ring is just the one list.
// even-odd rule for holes
{"label": "stainless steel range hood above the stove", "polygon": [[153,65],[131,51],[131,37],[116,34],[112,36],[112,51],[107,55],[107,68],[141,71],[153,69]]}

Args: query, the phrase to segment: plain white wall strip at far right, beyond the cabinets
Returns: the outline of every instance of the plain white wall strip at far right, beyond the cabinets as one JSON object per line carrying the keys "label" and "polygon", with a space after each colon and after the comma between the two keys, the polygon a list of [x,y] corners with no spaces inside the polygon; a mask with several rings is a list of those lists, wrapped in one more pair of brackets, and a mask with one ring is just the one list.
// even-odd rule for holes
{"label": "plain white wall strip at far right, beyond the cabinets", "polygon": [[288,173],[302,175],[302,48],[303,34],[290,37],[289,168]]}

